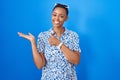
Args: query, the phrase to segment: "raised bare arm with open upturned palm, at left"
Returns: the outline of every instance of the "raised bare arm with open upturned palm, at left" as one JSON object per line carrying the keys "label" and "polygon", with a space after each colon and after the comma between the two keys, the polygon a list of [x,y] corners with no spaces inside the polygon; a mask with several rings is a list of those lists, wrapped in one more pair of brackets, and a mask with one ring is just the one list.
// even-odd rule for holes
{"label": "raised bare arm with open upturned palm, at left", "polygon": [[38,69],[41,69],[46,64],[46,60],[45,60],[44,54],[39,53],[37,50],[35,37],[31,33],[28,33],[28,35],[25,35],[21,32],[18,32],[18,35],[20,37],[28,39],[31,42],[32,54],[33,54],[35,65],[37,66]]}

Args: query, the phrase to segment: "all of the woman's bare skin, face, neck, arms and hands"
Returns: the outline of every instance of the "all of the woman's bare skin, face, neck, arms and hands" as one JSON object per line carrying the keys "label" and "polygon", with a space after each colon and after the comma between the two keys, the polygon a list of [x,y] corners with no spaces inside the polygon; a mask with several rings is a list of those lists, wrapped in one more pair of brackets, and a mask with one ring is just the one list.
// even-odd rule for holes
{"label": "all of the woman's bare skin, face, neck, arms and hands", "polygon": [[[62,33],[65,31],[63,24],[67,19],[68,16],[64,8],[57,7],[52,12],[53,29],[56,32],[57,37],[60,37]],[[43,53],[38,52],[35,37],[31,33],[28,33],[28,35],[26,35],[21,32],[18,32],[18,35],[31,42],[34,62],[37,68],[41,69],[46,64],[46,59]],[[48,41],[51,46],[58,46],[61,42],[52,34],[51,37],[48,39]],[[75,65],[79,63],[80,53],[78,51],[72,51],[69,48],[67,48],[64,44],[61,46],[61,51],[63,52],[64,56],[70,63],[73,63]]]}

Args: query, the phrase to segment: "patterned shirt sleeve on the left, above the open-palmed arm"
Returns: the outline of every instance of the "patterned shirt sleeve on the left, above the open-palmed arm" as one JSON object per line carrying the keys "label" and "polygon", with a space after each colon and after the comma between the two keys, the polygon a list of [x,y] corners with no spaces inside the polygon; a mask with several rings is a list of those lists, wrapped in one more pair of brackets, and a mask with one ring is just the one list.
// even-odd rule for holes
{"label": "patterned shirt sleeve on the left, above the open-palmed arm", "polygon": [[38,52],[44,53],[44,47],[45,47],[45,43],[44,43],[44,38],[43,38],[43,33],[41,32],[38,35],[38,39],[37,39],[37,49]]}

